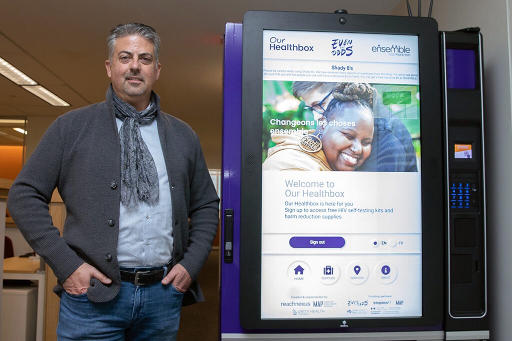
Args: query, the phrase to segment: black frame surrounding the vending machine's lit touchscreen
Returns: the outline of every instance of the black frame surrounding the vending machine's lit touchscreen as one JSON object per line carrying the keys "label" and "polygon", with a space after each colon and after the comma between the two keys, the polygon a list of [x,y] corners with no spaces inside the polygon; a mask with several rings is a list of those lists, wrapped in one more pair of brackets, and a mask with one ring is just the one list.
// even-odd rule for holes
{"label": "black frame surrounding the vending machine's lit touchscreen", "polygon": [[[262,82],[265,30],[415,35],[421,90],[422,315],[341,319],[261,318]],[[422,17],[249,11],[243,24],[240,321],[246,329],[391,331],[441,330],[445,311],[445,192],[439,36]],[[426,147],[428,146],[428,147]],[[434,275],[435,274],[435,275]]]}

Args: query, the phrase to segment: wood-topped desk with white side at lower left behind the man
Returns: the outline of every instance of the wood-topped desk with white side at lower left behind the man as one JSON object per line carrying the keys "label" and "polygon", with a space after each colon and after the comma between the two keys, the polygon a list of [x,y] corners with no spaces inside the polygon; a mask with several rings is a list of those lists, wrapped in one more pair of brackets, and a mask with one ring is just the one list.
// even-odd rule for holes
{"label": "wood-topped desk with white side at lower left behind the man", "polygon": [[37,281],[36,341],[42,341],[45,311],[45,270],[39,270],[40,262],[25,257],[4,259],[5,280]]}

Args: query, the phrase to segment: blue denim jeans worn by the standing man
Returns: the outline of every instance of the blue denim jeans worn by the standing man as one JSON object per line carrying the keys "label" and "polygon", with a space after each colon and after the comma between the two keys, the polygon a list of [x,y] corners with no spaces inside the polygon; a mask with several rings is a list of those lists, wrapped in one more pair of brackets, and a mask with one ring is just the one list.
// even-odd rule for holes
{"label": "blue denim jeans worn by the standing man", "polygon": [[180,324],[183,293],[158,282],[135,286],[121,282],[117,296],[96,303],[87,293],[62,292],[57,339],[174,341]]}

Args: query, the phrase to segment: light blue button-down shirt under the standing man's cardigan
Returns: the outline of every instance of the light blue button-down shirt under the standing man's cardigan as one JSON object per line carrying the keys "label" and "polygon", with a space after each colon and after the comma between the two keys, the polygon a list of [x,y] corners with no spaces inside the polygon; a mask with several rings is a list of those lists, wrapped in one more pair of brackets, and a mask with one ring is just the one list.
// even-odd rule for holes
{"label": "light blue button-down shirt under the standing man's cardigan", "polygon": [[[122,121],[116,118],[116,122],[120,130]],[[169,178],[158,137],[157,120],[141,125],[140,132],[155,160],[160,194],[154,205],[139,202],[139,206],[127,208],[119,203],[117,259],[120,267],[160,266],[167,264],[173,255]]]}

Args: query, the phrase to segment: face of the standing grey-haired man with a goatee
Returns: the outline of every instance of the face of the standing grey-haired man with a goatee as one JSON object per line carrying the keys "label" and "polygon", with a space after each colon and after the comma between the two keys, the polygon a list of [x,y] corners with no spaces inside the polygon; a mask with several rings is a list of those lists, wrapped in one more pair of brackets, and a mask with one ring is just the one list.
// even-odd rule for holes
{"label": "face of the standing grey-haired man with a goatee", "polygon": [[105,67],[116,95],[138,111],[144,110],[160,76],[153,43],[139,35],[117,38],[112,61],[106,60]]}

